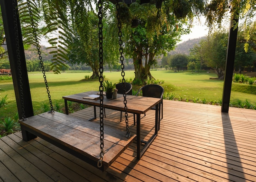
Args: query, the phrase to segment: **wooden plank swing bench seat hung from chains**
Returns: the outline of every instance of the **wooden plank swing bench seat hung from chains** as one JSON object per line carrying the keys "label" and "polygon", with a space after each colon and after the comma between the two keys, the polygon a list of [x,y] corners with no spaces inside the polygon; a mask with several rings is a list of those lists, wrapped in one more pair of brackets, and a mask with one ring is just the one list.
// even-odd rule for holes
{"label": "wooden plank swing bench seat hung from chains", "polygon": [[[97,167],[100,154],[100,125],[93,121],[59,112],[38,114],[20,121],[23,140],[36,136]],[[104,125],[104,158],[101,170],[106,170],[135,140],[126,131]]]}

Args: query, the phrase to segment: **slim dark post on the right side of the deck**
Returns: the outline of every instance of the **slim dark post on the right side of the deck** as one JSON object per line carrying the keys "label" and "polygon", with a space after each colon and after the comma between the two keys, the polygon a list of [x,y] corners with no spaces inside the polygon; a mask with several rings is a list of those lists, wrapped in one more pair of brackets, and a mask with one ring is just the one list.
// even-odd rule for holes
{"label": "slim dark post on the right side of the deck", "polygon": [[[231,22],[232,21],[235,21],[238,23],[238,18],[234,18],[233,16],[231,17]],[[227,58],[226,58],[224,86],[223,86],[223,92],[222,92],[222,105],[221,105],[222,112],[229,112],[229,102],[230,102],[232,77],[233,77],[235,53],[236,53],[236,39],[237,39],[238,27],[234,29],[234,26],[232,26],[231,22],[230,22],[230,29],[229,29],[228,45],[227,45]]]}

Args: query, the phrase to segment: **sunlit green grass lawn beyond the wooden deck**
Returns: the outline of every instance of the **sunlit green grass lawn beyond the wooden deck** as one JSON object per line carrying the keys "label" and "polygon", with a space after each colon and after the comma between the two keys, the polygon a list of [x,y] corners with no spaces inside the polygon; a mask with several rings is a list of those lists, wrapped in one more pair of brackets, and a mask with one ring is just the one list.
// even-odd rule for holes
{"label": "sunlit green grass lawn beyond the wooden deck", "polygon": [[[211,72],[173,72],[171,70],[152,70],[155,79],[164,80],[165,92],[170,92],[176,98],[182,99],[206,99],[207,101],[219,101],[222,99],[223,81],[210,80],[210,77],[216,77],[216,74]],[[47,81],[49,84],[50,94],[53,103],[61,103],[64,105],[62,96],[85,92],[89,90],[99,90],[98,80],[84,80],[85,75],[91,75],[90,72],[67,72],[61,74],[47,73]],[[121,72],[104,72],[106,79],[113,83],[118,83],[121,79]],[[134,78],[134,71],[125,72],[126,79]],[[29,73],[29,83],[31,97],[34,107],[34,112],[40,112],[40,103],[48,103],[48,97],[45,89],[43,75],[40,72]],[[256,86],[249,87],[245,84],[233,83],[235,90],[231,92],[231,101],[240,99],[244,101],[248,99],[252,104],[256,105],[256,95],[250,90],[247,93],[245,90],[256,90]],[[138,90],[139,86],[134,86],[134,90]],[[245,88],[245,89],[241,89]],[[0,81],[0,99],[8,95],[8,105],[0,108],[0,118],[4,116],[13,116],[17,112],[16,100],[13,91],[12,80]]]}

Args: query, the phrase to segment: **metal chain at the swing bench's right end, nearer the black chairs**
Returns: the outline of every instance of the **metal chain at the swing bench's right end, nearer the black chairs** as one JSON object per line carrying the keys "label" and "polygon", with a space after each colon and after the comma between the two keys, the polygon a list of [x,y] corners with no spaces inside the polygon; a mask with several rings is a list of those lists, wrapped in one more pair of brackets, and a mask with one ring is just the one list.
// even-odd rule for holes
{"label": "metal chain at the swing bench's right end, nearer the black chairs", "polygon": [[116,4],[116,9],[117,9],[117,26],[118,26],[118,37],[119,37],[119,53],[120,53],[120,61],[121,61],[121,76],[122,78],[122,83],[123,83],[123,90],[124,90],[124,110],[125,110],[125,123],[126,123],[126,136],[128,138],[130,138],[131,134],[130,134],[130,130],[129,130],[129,122],[128,122],[128,112],[127,112],[127,100],[126,100],[126,84],[125,84],[125,79],[124,79],[124,56],[123,56],[123,41],[122,41],[122,32],[121,32],[121,15],[120,15],[120,5],[119,5],[119,0],[117,0],[117,4]]}

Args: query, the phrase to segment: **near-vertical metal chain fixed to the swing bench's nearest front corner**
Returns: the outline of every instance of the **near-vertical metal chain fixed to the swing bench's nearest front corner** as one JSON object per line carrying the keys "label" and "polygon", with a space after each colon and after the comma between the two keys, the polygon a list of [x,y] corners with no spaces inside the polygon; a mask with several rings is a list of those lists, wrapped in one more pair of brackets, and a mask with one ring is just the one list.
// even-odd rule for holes
{"label": "near-vertical metal chain fixed to the swing bench's nearest front corner", "polygon": [[97,163],[98,167],[102,167],[102,161],[103,161],[103,156],[104,156],[104,122],[103,122],[103,34],[102,34],[102,2],[99,0],[98,2],[98,8],[99,8],[99,13],[98,13],[98,18],[99,18],[99,91],[100,91],[100,148],[101,148],[101,153],[99,155],[99,161]]}

